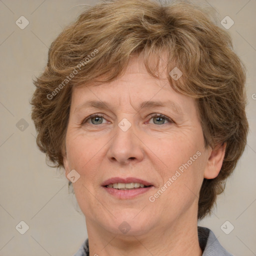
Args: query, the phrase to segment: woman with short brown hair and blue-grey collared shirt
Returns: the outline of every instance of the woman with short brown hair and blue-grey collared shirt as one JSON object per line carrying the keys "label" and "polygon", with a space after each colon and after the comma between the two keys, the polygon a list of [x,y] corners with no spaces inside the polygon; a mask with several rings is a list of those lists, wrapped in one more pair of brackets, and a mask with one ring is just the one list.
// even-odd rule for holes
{"label": "woman with short brown hair and blue-grey collared shirt", "polygon": [[75,256],[231,255],[197,226],[248,131],[244,66],[210,14],[100,2],[52,42],[32,119],[86,219]]}

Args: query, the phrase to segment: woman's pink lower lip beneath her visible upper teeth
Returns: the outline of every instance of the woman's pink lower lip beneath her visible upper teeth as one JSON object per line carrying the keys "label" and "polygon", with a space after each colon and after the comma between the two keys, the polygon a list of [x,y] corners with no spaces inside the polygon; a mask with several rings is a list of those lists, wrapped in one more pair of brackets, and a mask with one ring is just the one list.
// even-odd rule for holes
{"label": "woman's pink lower lip beneath her visible upper teeth", "polygon": [[127,189],[127,190],[122,190],[122,189],[116,189],[116,188],[111,188],[111,187],[105,187],[103,188],[111,195],[117,197],[118,199],[132,199],[135,196],[139,194],[146,193],[149,191],[153,186],[148,186],[148,187],[140,187],[140,188],[135,188],[135,189]]}

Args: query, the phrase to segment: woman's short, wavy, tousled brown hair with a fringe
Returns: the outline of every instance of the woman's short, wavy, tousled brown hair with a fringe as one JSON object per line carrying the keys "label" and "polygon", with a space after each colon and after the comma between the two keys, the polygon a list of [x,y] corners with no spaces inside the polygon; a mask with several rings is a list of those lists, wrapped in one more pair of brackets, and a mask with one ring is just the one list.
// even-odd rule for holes
{"label": "woman's short, wavy, tousled brown hair with a fringe", "polygon": [[[188,1],[110,0],[86,9],[51,43],[45,70],[34,80],[31,117],[40,150],[55,167],[63,166],[73,86],[117,78],[134,53],[141,54],[148,72],[158,77],[164,52],[167,72],[174,67],[183,72],[178,80],[167,73],[170,86],[197,102],[205,146],[226,142],[218,176],[202,182],[198,219],[203,218],[223,191],[248,132],[245,67],[216,20],[210,7]],[[152,56],[154,67],[149,65]]]}

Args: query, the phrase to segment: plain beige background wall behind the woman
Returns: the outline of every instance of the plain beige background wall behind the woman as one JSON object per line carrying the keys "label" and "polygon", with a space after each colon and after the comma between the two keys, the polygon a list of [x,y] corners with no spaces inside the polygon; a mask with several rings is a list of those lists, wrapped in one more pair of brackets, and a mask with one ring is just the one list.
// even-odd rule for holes
{"label": "plain beige background wall behind the woman", "polygon": [[[76,202],[68,194],[67,180],[59,170],[46,165],[45,155],[36,147],[29,100],[34,90],[32,78],[43,70],[51,41],[82,11],[83,4],[95,2],[0,0],[0,255],[70,256],[87,237],[84,216],[75,210]],[[207,2],[219,12],[219,24],[226,15],[234,21],[228,31],[236,53],[247,66],[250,133],[244,154],[224,194],[218,197],[217,208],[199,224],[211,228],[234,255],[253,256],[256,255],[256,0]],[[29,21],[24,29],[15,24],[21,15]],[[25,121],[20,121],[21,118]],[[21,220],[29,226],[24,234],[15,229]],[[229,234],[220,228],[226,220],[234,226]],[[230,223],[226,226],[228,230]]]}

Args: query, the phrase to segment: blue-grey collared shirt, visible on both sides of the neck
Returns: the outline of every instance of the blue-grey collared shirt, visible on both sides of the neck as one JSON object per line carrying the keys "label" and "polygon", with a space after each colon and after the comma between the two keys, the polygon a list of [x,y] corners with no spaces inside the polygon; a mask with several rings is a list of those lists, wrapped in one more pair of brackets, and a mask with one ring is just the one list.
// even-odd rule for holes
{"label": "blue-grey collared shirt, visible on both sides of the neck", "polygon": [[[202,256],[233,256],[227,252],[219,243],[214,233],[207,227],[198,226],[198,239]],[[73,256],[89,256],[88,238],[83,242]]]}

